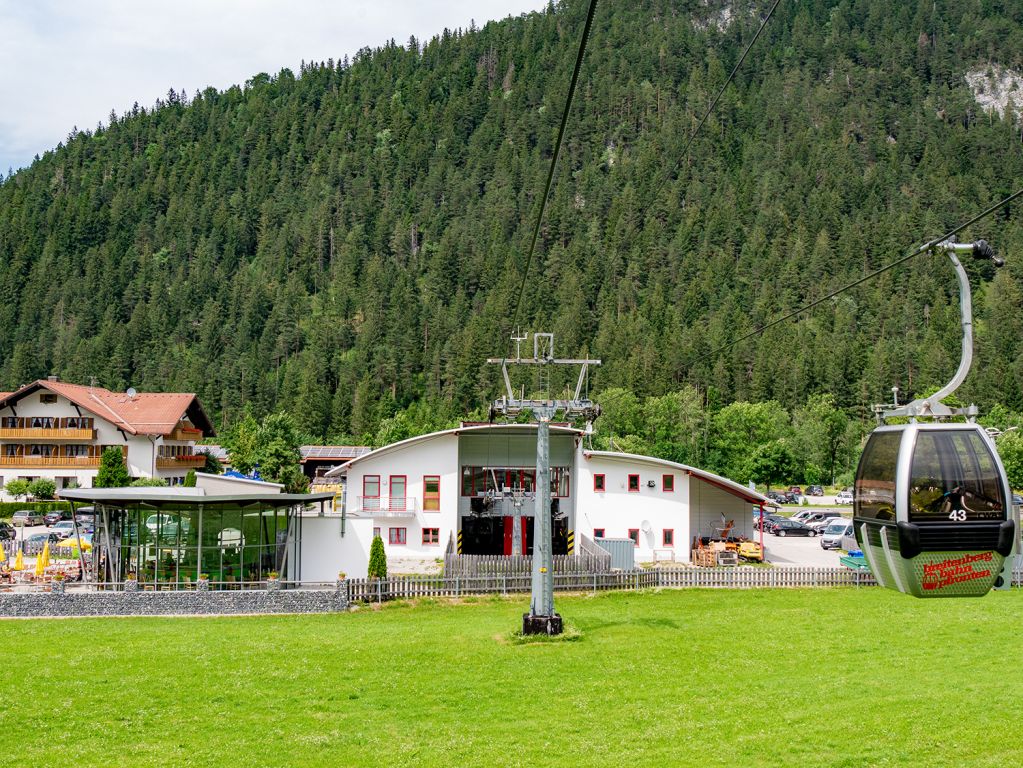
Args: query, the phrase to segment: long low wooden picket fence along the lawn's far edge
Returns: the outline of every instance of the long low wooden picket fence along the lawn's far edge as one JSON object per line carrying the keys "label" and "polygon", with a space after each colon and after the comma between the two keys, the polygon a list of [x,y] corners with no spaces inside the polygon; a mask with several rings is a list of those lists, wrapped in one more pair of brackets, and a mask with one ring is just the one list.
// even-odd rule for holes
{"label": "long low wooden picket fence along the lawn's far edge", "polygon": [[[559,592],[599,592],[655,587],[720,589],[859,587],[875,584],[877,582],[870,573],[850,571],[846,568],[679,568],[599,574],[554,574],[554,590]],[[399,576],[391,579],[348,581],[349,599],[366,602],[412,597],[510,594],[529,592],[530,588],[531,579],[528,574]]]}

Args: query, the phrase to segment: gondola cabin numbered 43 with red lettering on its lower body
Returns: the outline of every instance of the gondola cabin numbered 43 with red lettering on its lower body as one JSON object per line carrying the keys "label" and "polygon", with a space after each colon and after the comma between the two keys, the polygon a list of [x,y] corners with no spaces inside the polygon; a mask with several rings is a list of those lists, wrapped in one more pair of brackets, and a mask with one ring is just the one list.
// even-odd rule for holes
{"label": "gondola cabin numbered 43 with red lettering on its lower body", "polygon": [[856,469],[856,542],[882,586],[917,597],[984,595],[1011,582],[1011,500],[977,424],[880,426]]}

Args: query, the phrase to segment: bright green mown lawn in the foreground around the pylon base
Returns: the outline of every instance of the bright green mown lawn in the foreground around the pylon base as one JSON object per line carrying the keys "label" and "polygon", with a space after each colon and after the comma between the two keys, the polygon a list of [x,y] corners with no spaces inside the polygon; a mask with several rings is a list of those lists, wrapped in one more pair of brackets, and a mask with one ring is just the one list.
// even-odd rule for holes
{"label": "bright green mown lawn in the foreground around the pylon base", "polygon": [[[0,621],[18,766],[1007,766],[1023,591],[523,598],[318,617]],[[8,763],[9,759],[9,763]]]}

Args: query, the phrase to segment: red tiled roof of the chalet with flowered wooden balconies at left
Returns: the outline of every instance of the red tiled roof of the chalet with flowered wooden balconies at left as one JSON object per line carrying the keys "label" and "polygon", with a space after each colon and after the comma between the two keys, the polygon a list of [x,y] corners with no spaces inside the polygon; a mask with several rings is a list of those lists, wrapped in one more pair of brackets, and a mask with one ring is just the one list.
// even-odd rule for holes
{"label": "red tiled roof of the chalet with flowered wooden balconies at left", "polygon": [[62,395],[80,408],[132,435],[168,435],[184,416],[188,416],[205,436],[214,434],[198,398],[187,393],[140,392],[129,397],[127,393],[110,392],[102,387],[39,379],[17,392],[0,395],[0,408],[39,389]]}

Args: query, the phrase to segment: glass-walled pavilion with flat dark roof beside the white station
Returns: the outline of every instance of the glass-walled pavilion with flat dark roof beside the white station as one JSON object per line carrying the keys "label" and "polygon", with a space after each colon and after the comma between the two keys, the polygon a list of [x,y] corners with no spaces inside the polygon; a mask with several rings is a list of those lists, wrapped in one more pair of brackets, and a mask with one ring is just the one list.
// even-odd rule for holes
{"label": "glass-walled pavilion with flat dark roof beside the white station", "polygon": [[[140,588],[187,587],[205,574],[214,589],[261,586],[270,573],[299,581],[304,510],[323,511],[332,493],[205,496],[193,489],[61,491],[93,507],[93,556],[86,581]],[[315,512],[314,512],[315,513]]]}

